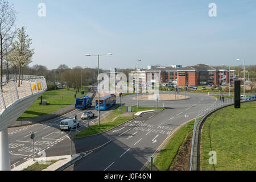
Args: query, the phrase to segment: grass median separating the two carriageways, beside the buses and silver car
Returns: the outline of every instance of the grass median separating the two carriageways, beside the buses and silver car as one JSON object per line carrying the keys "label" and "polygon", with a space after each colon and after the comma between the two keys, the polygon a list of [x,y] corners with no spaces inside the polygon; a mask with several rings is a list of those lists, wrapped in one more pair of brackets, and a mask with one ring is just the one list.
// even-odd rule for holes
{"label": "grass median separating the two carriageways, beside the buses and silver car", "polygon": [[[104,119],[102,119],[102,123],[100,126],[98,126],[98,124],[96,125],[92,125],[82,131],[80,131],[80,133],[77,134],[77,137],[85,137],[85,136],[89,136],[89,135],[93,135],[93,134],[97,134],[97,133],[102,133],[104,131],[110,130],[115,126],[118,126],[120,124],[122,124],[123,122],[128,121],[129,119],[134,118],[135,116],[130,116],[130,117],[121,117],[119,119],[116,118],[119,114],[118,111],[119,107],[115,110],[112,111],[112,113],[110,113],[107,117],[105,117]],[[146,110],[153,110],[156,109],[156,107],[139,107],[139,109],[137,109],[137,107],[132,107],[132,109],[134,109],[134,114],[137,113],[138,111],[146,111]],[[159,107],[159,110],[163,109],[162,107]],[[122,111],[121,114],[125,111],[125,106],[122,106]],[[113,119],[116,118],[114,121]]]}

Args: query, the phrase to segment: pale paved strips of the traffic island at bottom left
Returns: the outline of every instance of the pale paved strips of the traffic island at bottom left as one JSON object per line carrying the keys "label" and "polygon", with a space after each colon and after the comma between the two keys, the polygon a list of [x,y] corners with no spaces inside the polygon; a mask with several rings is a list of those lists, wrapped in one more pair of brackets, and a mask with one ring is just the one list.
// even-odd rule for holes
{"label": "pale paved strips of the traffic island at bottom left", "polygon": [[[48,166],[46,169],[43,169],[43,171],[61,171],[64,168],[75,163],[79,159],[81,159],[80,154],[75,154],[72,157],[70,155],[48,157],[46,158],[46,161],[50,161],[50,160],[58,160],[58,161],[52,164],[51,166]],[[38,162],[38,160],[39,158],[36,158],[35,161],[33,161],[33,159],[30,159],[27,162],[24,162],[23,164],[20,164],[19,166],[11,169],[11,171],[22,171],[23,169],[26,169],[32,166],[33,164],[35,164],[36,162]]]}

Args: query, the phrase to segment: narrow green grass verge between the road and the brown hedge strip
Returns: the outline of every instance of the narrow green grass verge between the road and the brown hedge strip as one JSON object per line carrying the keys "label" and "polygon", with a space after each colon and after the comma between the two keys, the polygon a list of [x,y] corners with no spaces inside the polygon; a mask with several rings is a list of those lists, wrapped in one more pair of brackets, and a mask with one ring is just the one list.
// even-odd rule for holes
{"label": "narrow green grass verge between the road and the brown hedge strip", "polygon": [[154,166],[158,168],[159,171],[168,171],[173,162],[179,147],[184,142],[187,134],[193,130],[195,120],[188,122],[187,128],[182,126],[172,138],[168,141],[166,146],[160,151],[158,156],[155,159]]}

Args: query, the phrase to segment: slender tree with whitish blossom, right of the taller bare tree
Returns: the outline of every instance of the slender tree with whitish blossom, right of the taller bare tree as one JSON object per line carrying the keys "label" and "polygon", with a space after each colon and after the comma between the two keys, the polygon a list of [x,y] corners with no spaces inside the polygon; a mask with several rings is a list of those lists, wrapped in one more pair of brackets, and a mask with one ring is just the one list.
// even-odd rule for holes
{"label": "slender tree with whitish blossom, right of the taller bare tree", "polygon": [[19,65],[19,86],[20,79],[23,80],[23,68],[32,62],[32,56],[34,55],[34,49],[31,49],[31,39],[26,35],[25,27],[18,29],[18,40],[14,42],[14,51],[17,55]]}

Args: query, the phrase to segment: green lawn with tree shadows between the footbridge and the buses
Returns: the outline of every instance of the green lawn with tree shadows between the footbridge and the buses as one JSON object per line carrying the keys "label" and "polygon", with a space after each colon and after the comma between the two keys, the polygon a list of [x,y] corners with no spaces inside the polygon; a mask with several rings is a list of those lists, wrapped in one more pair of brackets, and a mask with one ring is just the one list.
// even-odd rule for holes
{"label": "green lawn with tree shadows between the footbridge and the buses", "polygon": [[[85,95],[87,94],[85,89]],[[26,119],[32,117],[38,117],[40,115],[45,115],[52,113],[56,110],[61,109],[61,98],[62,99],[62,108],[67,107],[75,103],[75,90],[74,89],[59,89],[59,90],[51,90],[43,93],[43,101],[47,101],[47,105],[39,105],[41,102],[41,97],[34,102],[21,116],[19,119]],[[81,93],[77,93],[77,97],[80,97]],[[18,119],[18,120],[19,120]]]}

